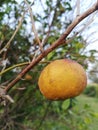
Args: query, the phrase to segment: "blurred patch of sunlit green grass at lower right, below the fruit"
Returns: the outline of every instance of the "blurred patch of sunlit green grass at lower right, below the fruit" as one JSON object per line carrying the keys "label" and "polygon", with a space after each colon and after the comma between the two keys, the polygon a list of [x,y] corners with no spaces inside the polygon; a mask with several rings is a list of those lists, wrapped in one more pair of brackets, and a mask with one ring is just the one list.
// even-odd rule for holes
{"label": "blurred patch of sunlit green grass at lower right, below the fruit", "polygon": [[[86,115],[89,113],[91,122],[90,125],[92,130],[98,130],[98,98],[87,97],[85,95],[80,95],[77,98],[77,104],[74,110],[86,110]],[[85,114],[83,115],[85,116]]]}

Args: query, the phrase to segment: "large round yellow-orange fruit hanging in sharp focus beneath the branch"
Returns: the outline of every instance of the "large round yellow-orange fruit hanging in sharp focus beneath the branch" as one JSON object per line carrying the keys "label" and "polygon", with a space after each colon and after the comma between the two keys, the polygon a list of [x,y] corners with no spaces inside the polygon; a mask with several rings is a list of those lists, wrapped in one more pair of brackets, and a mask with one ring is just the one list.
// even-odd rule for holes
{"label": "large round yellow-orange fruit hanging in sharp focus beneath the branch", "polygon": [[43,69],[38,85],[47,99],[68,99],[82,93],[87,85],[87,76],[79,63],[70,59],[60,59]]}

